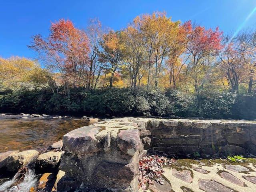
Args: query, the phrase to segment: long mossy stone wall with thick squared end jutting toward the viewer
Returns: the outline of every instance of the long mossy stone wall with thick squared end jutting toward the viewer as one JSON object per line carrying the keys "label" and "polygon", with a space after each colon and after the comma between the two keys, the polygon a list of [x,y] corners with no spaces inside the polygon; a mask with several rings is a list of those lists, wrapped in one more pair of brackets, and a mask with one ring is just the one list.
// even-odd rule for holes
{"label": "long mossy stone wall with thick squared end jutting toward the viewer", "polygon": [[256,154],[256,122],[118,118],[63,137],[58,191],[77,188],[138,191],[138,160],[146,151],[167,154]]}

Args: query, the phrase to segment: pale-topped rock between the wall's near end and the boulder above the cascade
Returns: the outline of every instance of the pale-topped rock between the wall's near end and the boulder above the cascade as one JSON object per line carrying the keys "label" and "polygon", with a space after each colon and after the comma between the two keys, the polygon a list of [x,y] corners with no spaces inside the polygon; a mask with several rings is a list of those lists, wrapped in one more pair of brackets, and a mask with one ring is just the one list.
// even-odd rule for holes
{"label": "pale-topped rock between the wall's near end and the boulder above the cascade", "polygon": [[60,162],[60,158],[64,154],[64,151],[50,151],[43,154],[40,154],[37,158],[36,163],[41,168],[55,168]]}

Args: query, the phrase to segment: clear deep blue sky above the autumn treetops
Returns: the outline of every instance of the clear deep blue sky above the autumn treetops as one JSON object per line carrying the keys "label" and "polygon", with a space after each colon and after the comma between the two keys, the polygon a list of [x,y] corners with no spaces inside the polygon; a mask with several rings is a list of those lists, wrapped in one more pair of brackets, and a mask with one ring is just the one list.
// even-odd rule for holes
{"label": "clear deep blue sky above the autumn treetops", "polygon": [[[50,21],[70,19],[85,28],[99,17],[104,26],[124,28],[142,13],[166,11],[172,20],[196,21],[206,28],[236,31],[256,7],[256,0],[0,0],[0,56],[33,58],[27,48],[35,34],[47,36]],[[256,26],[256,13],[243,27]]]}

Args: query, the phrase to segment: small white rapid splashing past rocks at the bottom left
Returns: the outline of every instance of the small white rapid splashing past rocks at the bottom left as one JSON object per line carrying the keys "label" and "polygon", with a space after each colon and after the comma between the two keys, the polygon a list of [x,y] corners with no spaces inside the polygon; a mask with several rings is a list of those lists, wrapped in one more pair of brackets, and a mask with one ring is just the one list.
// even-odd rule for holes
{"label": "small white rapid splashing past rocks at the bottom left", "polygon": [[[26,172],[21,176],[20,170],[14,175],[14,177],[4,182],[0,185],[0,192],[34,192],[36,189],[36,184],[38,182],[38,177],[36,176],[34,170],[26,168]],[[22,181],[20,182],[20,178]]]}

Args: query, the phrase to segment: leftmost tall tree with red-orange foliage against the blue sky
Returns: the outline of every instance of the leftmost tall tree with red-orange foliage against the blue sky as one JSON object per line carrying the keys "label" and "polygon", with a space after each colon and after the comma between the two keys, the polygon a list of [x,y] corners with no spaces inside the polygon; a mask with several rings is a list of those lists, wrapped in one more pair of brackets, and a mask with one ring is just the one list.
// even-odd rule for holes
{"label": "leftmost tall tree with red-orange foliage against the blue sky", "polygon": [[70,20],[61,19],[52,23],[47,38],[42,38],[40,34],[32,36],[32,43],[28,47],[39,53],[48,68],[60,72],[65,94],[69,96],[71,85],[90,86],[88,44],[88,37],[83,30],[75,28]]}

